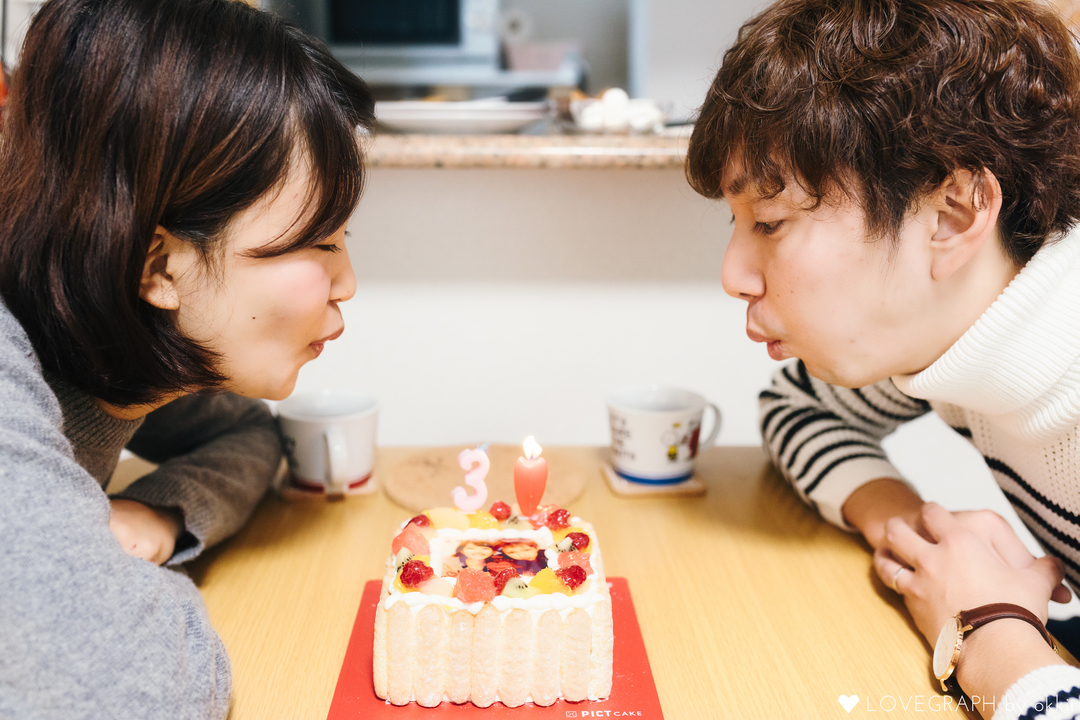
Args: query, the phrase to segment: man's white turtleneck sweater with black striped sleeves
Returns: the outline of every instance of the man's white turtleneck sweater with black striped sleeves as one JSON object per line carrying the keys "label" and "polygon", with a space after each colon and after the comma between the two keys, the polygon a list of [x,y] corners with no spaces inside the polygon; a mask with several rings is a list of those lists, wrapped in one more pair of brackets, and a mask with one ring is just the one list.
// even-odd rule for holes
{"label": "man's white turtleneck sweater with black striped sleeves", "polygon": [[[849,530],[841,507],[859,486],[904,479],[881,438],[934,410],[978,449],[1020,517],[1080,589],[1080,230],[1039,250],[921,372],[850,390],[810,377],[800,362],[775,373],[760,404],[777,467],[825,519]],[[1066,702],[1024,715],[1058,693]],[[1080,670],[1042,668],[1007,699],[1025,718],[1056,720],[1080,712],[1077,697]],[[995,720],[1018,715],[1002,707]]]}

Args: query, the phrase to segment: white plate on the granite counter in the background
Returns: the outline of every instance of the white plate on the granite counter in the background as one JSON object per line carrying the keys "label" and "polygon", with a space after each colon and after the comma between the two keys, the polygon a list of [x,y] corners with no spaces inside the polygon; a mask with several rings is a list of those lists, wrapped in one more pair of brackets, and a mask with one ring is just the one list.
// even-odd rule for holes
{"label": "white plate on the granite counter in the background", "polygon": [[379,124],[400,133],[515,133],[546,116],[548,104],[395,100],[377,103],[375,114]]}

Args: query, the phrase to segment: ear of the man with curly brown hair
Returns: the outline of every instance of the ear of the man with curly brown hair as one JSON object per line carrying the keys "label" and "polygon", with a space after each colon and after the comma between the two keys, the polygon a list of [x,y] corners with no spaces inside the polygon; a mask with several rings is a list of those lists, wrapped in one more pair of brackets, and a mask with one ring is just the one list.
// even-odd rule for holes
{"label": "ear of the man with curly brown hair", "polygon": [[937,223],[930,239],[933,280],[951,276],[995,237],[1001,210],[1001,185],[988,169],[957,171],[933,193]]}

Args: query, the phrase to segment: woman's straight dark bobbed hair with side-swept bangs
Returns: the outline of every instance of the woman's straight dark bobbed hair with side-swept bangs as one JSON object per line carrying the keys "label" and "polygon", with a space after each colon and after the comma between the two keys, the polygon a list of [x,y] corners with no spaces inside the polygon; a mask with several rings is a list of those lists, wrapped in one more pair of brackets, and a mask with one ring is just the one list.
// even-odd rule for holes
{"label": "woman's straight dark bobbed hair with side-swept bangs", "polygon": [[116,405],[220,388],[218,357],[139,299],[160,226],[207,262],[302,159],[271,257],[325,240],[363,191],[374,99],[316,40],[239,0],[50,0],[0,121],[0,295],[45,370]]}

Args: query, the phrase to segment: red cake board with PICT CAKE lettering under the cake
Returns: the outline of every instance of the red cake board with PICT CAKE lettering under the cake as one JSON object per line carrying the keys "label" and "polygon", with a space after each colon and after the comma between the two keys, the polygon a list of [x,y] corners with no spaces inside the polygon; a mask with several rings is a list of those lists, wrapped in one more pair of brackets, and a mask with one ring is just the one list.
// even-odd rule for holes
{"label": "red cake board with PICT CAKE lettering under the cake", "polygon": [[372,643],[375,635],[375,606],[379,601],[381,582],[368,581],[360,600],[356,623],[352,627],[349,648],[345,652],[337,690],[330,703],[327,720],[356,720],[357,718],[653,718],[664,717],[660,697],[652,681],[652,669],[645,654],[642,629],[634,614],[634,602],[625,578],[608,578],[611,588],[611,622],[615,626],[615,664],[611,673],[611,696],[605,701],[567,703],[540,707],[526,703],[521,707],[505,707],[496,703],[490,707],[476,707],[472,703],[438,707],[420,707],[416,703],[396,706],[375,695],[372,680]]}

